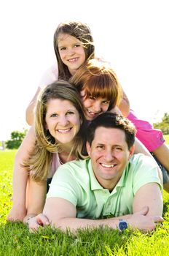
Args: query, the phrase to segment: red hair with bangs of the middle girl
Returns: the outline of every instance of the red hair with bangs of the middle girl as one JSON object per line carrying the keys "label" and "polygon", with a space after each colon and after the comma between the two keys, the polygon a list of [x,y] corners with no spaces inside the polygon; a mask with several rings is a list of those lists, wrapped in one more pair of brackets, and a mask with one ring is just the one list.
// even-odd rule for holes
{"label": "red hair with bangs of the middle girl", "polygon": [[122,87],[110,64],[100,59],[90,59],[77,69],[69,82],[85,97],[101,97],[110,101],[109,110],[122,100]]}

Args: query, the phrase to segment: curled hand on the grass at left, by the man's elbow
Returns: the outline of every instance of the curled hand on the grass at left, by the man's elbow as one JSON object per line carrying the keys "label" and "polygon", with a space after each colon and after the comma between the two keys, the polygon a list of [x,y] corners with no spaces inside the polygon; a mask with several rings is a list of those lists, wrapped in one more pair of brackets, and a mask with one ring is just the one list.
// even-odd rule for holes
{"label": "curled hand on the grass at left, by the man's elbow", "polygon": [[49,219],[44,214],[38,214],[36,217],[29,219],[27,223],[30,231],[35,231],[39,227],[44,227],[44,225],[50,225]]}

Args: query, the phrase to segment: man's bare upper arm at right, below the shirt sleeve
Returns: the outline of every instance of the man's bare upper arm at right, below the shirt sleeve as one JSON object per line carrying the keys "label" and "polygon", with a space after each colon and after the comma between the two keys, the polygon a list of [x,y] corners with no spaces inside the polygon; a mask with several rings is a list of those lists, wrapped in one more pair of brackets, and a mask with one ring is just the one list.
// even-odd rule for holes
{"label": "man's bare upper arm at right, below the shirt sleeve", "polygon": [[141,211],[144,206],[149,207],[146,216],[162,216],[162,192],[157,183],[145,184],[136,192],[133,200],[133,213]]}

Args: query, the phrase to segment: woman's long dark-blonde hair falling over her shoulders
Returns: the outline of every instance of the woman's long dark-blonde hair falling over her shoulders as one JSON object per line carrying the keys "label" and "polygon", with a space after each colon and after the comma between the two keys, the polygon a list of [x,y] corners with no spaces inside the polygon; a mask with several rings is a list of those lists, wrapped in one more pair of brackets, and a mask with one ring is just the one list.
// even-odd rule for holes
{"label": "woman's long dark-blonde hair falling over her shoulders", "polygon": [[81,127],[74,138],[74,146],[71,148],[69,156],[74,154],[78,159],[84,158],[82,151],[85,143],[86,121],[79,99],[79,93],[70,83],[60,80],[47,86],[39,96],[35,110],[35,134],[36,146],[34,152],[30,153],[30,158],[25,164],[27,170],[31,173],[34,181],[44,181],[50,171],[53,153],[60,152],[60,143],[50,135],[46,129],[45,117],[47,113],[47,102],[50,99],[68,100],[79,112]]}

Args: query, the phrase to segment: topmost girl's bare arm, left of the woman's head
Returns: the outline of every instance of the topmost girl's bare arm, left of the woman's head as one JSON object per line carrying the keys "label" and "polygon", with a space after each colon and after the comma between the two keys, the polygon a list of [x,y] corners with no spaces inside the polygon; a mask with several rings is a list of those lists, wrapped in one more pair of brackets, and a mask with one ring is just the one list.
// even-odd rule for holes
{"label": "topmost girl's bare arm, left of the woman's head", "polygon": [[36,99],[38,97],[39,91],[41,91],[40,87],[38,87],[36,94],[34,95],[33,99],[31,99],[31,102],[25,110],[25,120],[30,126],[34,123],[34,107],[36,105]]}

